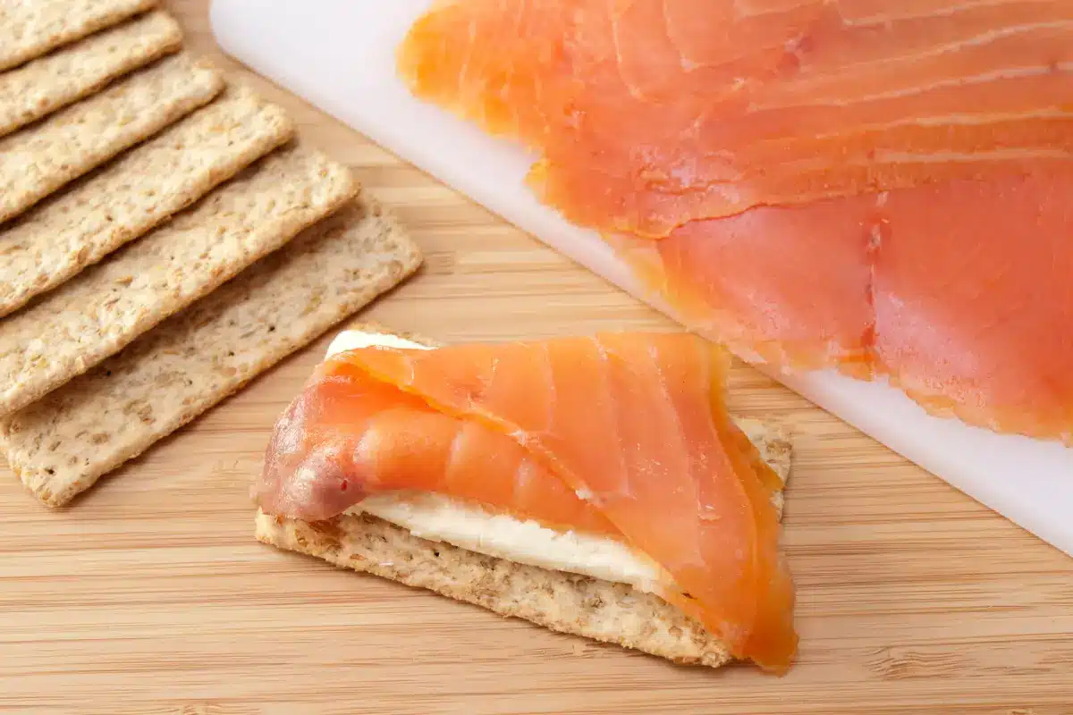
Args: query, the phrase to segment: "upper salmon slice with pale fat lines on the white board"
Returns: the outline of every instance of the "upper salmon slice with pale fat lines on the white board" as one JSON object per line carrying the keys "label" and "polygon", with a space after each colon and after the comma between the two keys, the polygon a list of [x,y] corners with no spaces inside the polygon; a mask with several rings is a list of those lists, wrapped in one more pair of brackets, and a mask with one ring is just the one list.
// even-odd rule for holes
{"label": "upper salmon slice with pale fat lines on the white board", "polygon": [[457,0],[414,26],[399,71],[538,151],[541,198],[605,233],[1073,151],[1065,0]]}

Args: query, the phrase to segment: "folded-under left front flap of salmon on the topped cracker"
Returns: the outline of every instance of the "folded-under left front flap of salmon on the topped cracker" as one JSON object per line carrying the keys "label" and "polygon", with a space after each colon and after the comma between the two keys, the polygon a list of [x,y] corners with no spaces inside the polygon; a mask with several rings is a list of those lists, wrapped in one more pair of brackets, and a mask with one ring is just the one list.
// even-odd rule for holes
{"label": "folded-under left front flap of salmon on the topped cracker", "polygon": [[276,426],[255,495],[267,512],[321,521],[370,494],[416,490],[510,506],[553,528],[618,534],[509,436],[436,412],[348,362],[325,371]]}

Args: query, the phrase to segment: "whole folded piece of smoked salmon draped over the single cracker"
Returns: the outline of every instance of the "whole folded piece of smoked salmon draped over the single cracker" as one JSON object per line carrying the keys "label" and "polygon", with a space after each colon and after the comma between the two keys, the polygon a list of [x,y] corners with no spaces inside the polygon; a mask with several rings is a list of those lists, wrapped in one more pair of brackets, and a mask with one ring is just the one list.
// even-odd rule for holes
{"label": "whole folded piece of smoked salmon draped over the single cracker", "polygon": [[797,636],[781,482],[726,413],[727,367],[687,333],[348,351],[278,421],[256,501],[315,521],[433,492],[609,535],[659,565],[666,601],[782,672]]}

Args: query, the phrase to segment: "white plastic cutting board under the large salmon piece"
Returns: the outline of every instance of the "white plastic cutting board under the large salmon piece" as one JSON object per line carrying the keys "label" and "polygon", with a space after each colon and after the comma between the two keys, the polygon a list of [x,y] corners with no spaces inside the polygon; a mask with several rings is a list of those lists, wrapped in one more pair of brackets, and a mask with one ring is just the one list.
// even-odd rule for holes
{"label": "white plastic cutting board under the large salmon piece", "polygon": [[[395,47],[430,3],[215,0],[211,20],[230,55],[638,295],[596,235],[526,190],[531,158],[417,102],[396,79]],[[881,384],[833,373],[777,378],[1073,555],[1073,449],[930,417]]]}

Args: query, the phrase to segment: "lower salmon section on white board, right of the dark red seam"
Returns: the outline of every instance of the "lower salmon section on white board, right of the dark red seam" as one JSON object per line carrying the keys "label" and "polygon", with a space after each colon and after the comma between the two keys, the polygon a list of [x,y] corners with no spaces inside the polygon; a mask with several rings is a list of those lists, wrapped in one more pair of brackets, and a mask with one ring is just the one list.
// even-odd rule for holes
{"label": "lower salmon section on white board, right of the dark red seam", "polygon": [[1073,444],[1073,173],[892,192],[876,360],[929,411]]}

